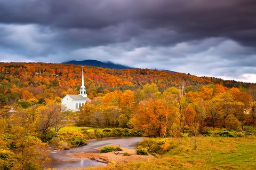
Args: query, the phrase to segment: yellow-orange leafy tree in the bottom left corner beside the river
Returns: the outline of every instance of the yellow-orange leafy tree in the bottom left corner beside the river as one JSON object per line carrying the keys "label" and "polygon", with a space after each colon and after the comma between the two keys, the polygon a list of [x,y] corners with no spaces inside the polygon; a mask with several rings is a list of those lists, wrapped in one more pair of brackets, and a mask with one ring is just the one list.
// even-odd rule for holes
{"label": "yellow-orange leafy tree in the bottom left corner beside the river", "polygon": [[7,140],[1,142],[0,139],[1,147],[8,155],[4,169],[43,169],[50,161],[50,150],[47,143],[36,137],[33,108],[14,107],[6,111],[11,114],[8,116],[10,126],[3,128],[2,132],[8,136]]}

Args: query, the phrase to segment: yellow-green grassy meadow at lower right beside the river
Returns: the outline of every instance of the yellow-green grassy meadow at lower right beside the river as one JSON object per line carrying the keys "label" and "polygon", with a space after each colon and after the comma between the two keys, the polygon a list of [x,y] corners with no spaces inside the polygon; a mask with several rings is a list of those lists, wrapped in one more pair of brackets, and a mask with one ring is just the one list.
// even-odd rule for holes
{"label": "yellow-green grassy meadow at lower right beside the river", "polygon": [[198,137],[193,149],[188,137],[178,148],[148,161],[86,169],[256,169],[255,136]]}

